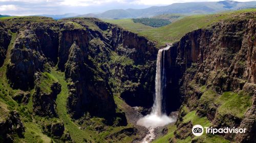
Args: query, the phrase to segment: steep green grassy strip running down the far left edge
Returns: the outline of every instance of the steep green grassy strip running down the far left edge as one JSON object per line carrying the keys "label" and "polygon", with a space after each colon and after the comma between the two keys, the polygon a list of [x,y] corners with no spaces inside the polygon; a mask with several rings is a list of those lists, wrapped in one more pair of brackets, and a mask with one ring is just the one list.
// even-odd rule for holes
{"label": "steep green grassy strip running down the far left edge", "polygon": [[[0,112],[0,119],[2,118],[2,115],[5,115],[7,117],[7,114],[9,114],[9,111],[16,110],[20,114],[20,119],[25,124],[25,133],[24,138],[18,138],[14,134],[14,141],[15,142],[51,142],[51,138],[44,135],[40,129],[40,127],[37,126],[34,120],[31,118],[32,114],[32,97],[30,98],[30,101],[28,105],[21,105],[15,102],[12,97],[14,94],[23,92],[21,90],[14,90],[10,87],[10,84],[8,83],[7,77],[6,77],[6,70],[7,70],[7,64],[10,62],[10,51],[12,49],[14,40],[16,39],[16,33],[10,33],[12,35],[11,42],[8,46],[7,51],[7,57],[5,59],[4,65],[0,67],[0,104],[1,104],[1,112]],[[33,92],[33,90],[31,90]],[[3,112],[2,112],[3,111]]]}

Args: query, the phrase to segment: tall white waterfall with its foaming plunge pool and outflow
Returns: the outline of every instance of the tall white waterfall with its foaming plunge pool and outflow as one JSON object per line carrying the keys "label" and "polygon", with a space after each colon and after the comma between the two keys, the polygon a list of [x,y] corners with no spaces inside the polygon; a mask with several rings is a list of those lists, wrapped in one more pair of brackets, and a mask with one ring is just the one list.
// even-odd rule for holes
{"label": "tall white waterfall with its foaming plunge pool and outflow", "polygon": [[156,68],[156,80],[155,80],[155,89],[156,96],[154,105],[152,107],[152,112],[142,118],[137,122],[138,125],[144,126],[149,129],[150,133],[147,134],[143,143],[151,142],[154,137],[154,130],[156,127],[164,126],[166,124],[172,123],[175,119],[168,117],[164,112],[163,107],[163,92],[165,88],[165,69],[164,69],[164,55],[166,50],[169,49],[169,45],[164,49],[158,51],[157,54],[157,68]]}

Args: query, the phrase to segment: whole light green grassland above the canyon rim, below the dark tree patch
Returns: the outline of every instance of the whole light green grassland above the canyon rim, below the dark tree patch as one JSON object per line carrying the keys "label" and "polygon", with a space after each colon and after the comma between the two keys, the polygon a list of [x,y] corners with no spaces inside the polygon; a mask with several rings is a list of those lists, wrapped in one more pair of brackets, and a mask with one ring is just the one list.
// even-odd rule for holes
{"label": "whole light green grassland above the canyon rim, below the dark tree patch", "polygon": [[212,23],[220,20],[228,19],[234,14],[243,12],[256,12],[256,9],[243,9],[233,12],[223,12],[218,14],[209,15],[193,15],[181,18],[170,25],[160,28],[148,28],[137,25],[132,19],[119,19],[119,20],[104,20],[106,22],[114,23],[123,27],[126,30],[138,33],[139,35],[145,36],[150,40],[156,41],[157,46],[164,46],[167,43],[173,43],[178,40],[186,33],[200,28],[207,28]]}

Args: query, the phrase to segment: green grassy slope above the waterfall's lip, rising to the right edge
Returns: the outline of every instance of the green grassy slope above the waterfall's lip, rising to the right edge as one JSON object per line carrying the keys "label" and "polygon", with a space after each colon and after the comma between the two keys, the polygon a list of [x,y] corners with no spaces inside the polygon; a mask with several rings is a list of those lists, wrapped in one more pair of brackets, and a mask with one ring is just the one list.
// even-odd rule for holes
{"label": "green grassy slope above the waterfall's lip, rising to the right edge", "polygon": [[166,43],[173,43],[180,40],[180,38],[188,32],[200,28],[207,28],[212,23],[228,19],[232,15],[242,12],[256,12],[256,9],[244,9],[234,12],[225,12],[210,15],[187,16],[176,22],[171,23],[170,25],[156,29],[141,31],[139,32],[139,34],[151,40],[157,41],[158,46],[163,46]]}

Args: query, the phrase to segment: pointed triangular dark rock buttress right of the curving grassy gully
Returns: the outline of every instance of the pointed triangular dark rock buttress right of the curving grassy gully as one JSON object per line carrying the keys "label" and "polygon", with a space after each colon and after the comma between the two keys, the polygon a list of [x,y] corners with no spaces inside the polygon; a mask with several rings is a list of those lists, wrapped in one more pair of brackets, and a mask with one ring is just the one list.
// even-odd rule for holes
{"label": "pointed triangular dark rock buttress right of the curving grassy gully", "polygon": [[111,117],[116,105],[110,86],[77,42],[75,39],[70,48],[65,69],[66,77],[71,79],[68,98],[70,113],[79,117],[88,111],[91,115]]}

